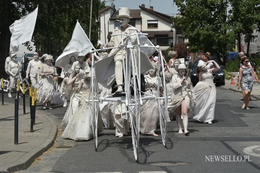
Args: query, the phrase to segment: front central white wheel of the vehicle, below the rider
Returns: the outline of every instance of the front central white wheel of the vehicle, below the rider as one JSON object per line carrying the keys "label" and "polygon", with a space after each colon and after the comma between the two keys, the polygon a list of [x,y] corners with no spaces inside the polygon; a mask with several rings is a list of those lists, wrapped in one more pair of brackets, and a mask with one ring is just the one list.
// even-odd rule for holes
{"label": "front central white wheel of the vehicle, below the rider", "polygon": [[[125,85],[126,89],[126,100],[127,108],[129,112],[129,119],[131,122],[131,132],[132,132],[132,143],[133,150],[136,161],[139,157],[139,121],[140,121],[140,97],[141,93],[138,89],[139,86],[139,75],[137,72],[136,57],[133,49],[127,51],[126,70],[127,82]],[[131,93],[132,91],[132,93]]]}

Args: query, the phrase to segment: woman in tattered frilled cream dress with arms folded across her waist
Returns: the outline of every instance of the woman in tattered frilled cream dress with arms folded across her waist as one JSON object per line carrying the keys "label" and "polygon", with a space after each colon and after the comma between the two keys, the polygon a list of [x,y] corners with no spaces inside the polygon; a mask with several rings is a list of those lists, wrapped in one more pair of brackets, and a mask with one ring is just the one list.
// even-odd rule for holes
{"label": "woman in tattered frilled cream dress with arms folded across her waist", "polygon": [[52,109],[50,104],[54,97],[54,77],[57,77],[57,70],[52,65],[54,62],[52,56],[48,55],[44,59],[45,64],[40,67],[39,75],[42,77],[42,85],[39,86],[36,93],[36,99],[39,103],[43,103],[43,109]]}

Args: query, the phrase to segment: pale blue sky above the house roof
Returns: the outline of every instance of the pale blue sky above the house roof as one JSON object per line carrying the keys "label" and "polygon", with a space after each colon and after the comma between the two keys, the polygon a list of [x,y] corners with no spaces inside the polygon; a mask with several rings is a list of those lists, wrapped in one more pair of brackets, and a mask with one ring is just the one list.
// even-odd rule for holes
{"label": "pale blue sky above the house roof", "polygon": [[[108,0],[106,0],[108,1]],[[154,7],[154,11],[158,11],[169,16],[176,16],[177,7],[173,0],[114,0],[114,5],[118,10],[119,7],[128,7],[130,9],[140,9],[139,5],[144,4],[146,8],[150,8],[150,5]],[[106,5],[111,5],[111,1],[106,2]]]}

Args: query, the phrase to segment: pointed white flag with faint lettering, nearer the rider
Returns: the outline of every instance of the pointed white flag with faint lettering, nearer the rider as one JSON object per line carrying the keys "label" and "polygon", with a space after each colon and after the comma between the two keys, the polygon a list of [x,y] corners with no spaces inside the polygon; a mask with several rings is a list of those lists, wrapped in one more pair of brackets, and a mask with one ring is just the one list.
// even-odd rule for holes
{"label": "pointed white flag with faint lettering, nearer the rider", "polygon": [[77,21],[72,38],[62,54],[56,59],[55,67],[65,67],[69,63],[71,55],[77,56],[80,52],[86,55],[93,48],[94,46],[80,26],[80,23]]}

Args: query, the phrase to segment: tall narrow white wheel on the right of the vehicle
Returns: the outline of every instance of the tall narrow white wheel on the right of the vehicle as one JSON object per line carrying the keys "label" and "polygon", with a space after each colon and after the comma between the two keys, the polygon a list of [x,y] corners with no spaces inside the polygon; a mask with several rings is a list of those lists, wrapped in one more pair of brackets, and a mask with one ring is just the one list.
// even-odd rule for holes
{"label": "tall narrow white wheel on the right of the vehicle", "polygon": [[[163,67],[164,59],[162,52],[159,51],[158,55],[158,67]],[[162,143],[166,146],[167,143],[167,106],[168,97],[165,85],[164,69],[158,68],[158,92],[157,92],[157,103],[159,108],[160,127],[162,133]]]}

